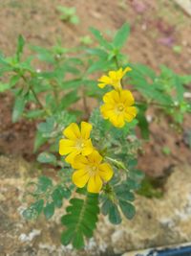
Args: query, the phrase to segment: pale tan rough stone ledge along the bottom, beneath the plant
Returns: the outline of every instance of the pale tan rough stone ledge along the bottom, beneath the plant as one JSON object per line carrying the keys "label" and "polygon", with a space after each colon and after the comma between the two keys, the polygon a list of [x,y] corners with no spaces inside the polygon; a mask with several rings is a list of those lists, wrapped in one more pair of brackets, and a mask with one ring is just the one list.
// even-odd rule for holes
{"label": "pale tan rough stone ledge along the bottom, beneath the plant", "polygon": [[[22,159],[0,156],[0,255],[7,256],[111,256],[131,250],[191,241],[191,168],[175,168],[165,184],[163,198],[137,196],[137,215],[112,225],[100,216],[95,237],[75,251],[60,244],[60,217],[42,216],[34,222],[21,217],[23,194],[32,167]],[[37,174],[36,174],[37,175]],[[1,254],[2,253],[2,254]]]}

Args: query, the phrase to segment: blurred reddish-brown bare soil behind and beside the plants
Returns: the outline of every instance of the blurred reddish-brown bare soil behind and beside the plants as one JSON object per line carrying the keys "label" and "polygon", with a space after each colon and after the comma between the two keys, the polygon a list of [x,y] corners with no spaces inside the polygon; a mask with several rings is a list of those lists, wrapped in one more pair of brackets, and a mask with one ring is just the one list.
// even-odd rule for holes
{"label": "blurred reddish-brown bare soil behind and beside the plants", "polygon": [[[168,3],[167,3],[168,2]],[[80,25],[63,23],[56,6],[75,6]],[[124,22],[131,24],[132,33],[124,47],[133,62],[147,64],[158,71],[165,64],[180,74],[189,74],[191,61],[191,19],[171,1],[67,1],[67,0],[4,0],[0,3],[0,48],[7,54],[14,53],[17,35],[25,36],[30,44],[53,46],[58,38],[66,47],[79,43],[80,36],[89,35],[88,28],[96,27],[113,34]],[[180,46],[180,53],[173,50]],[[11,124],[12,98],[0,96],[0,153],[32,156],[35,124],[21,121]],[[189,117],[184,129],[189,127]],[[190,163],[190,151],[183,142],[182,133],[169,128],[166,120],[153,122],[151,141],[144,147],[139,167],[151,175],[178,162]],[[161,152],[168,146],[171,154]]]}

